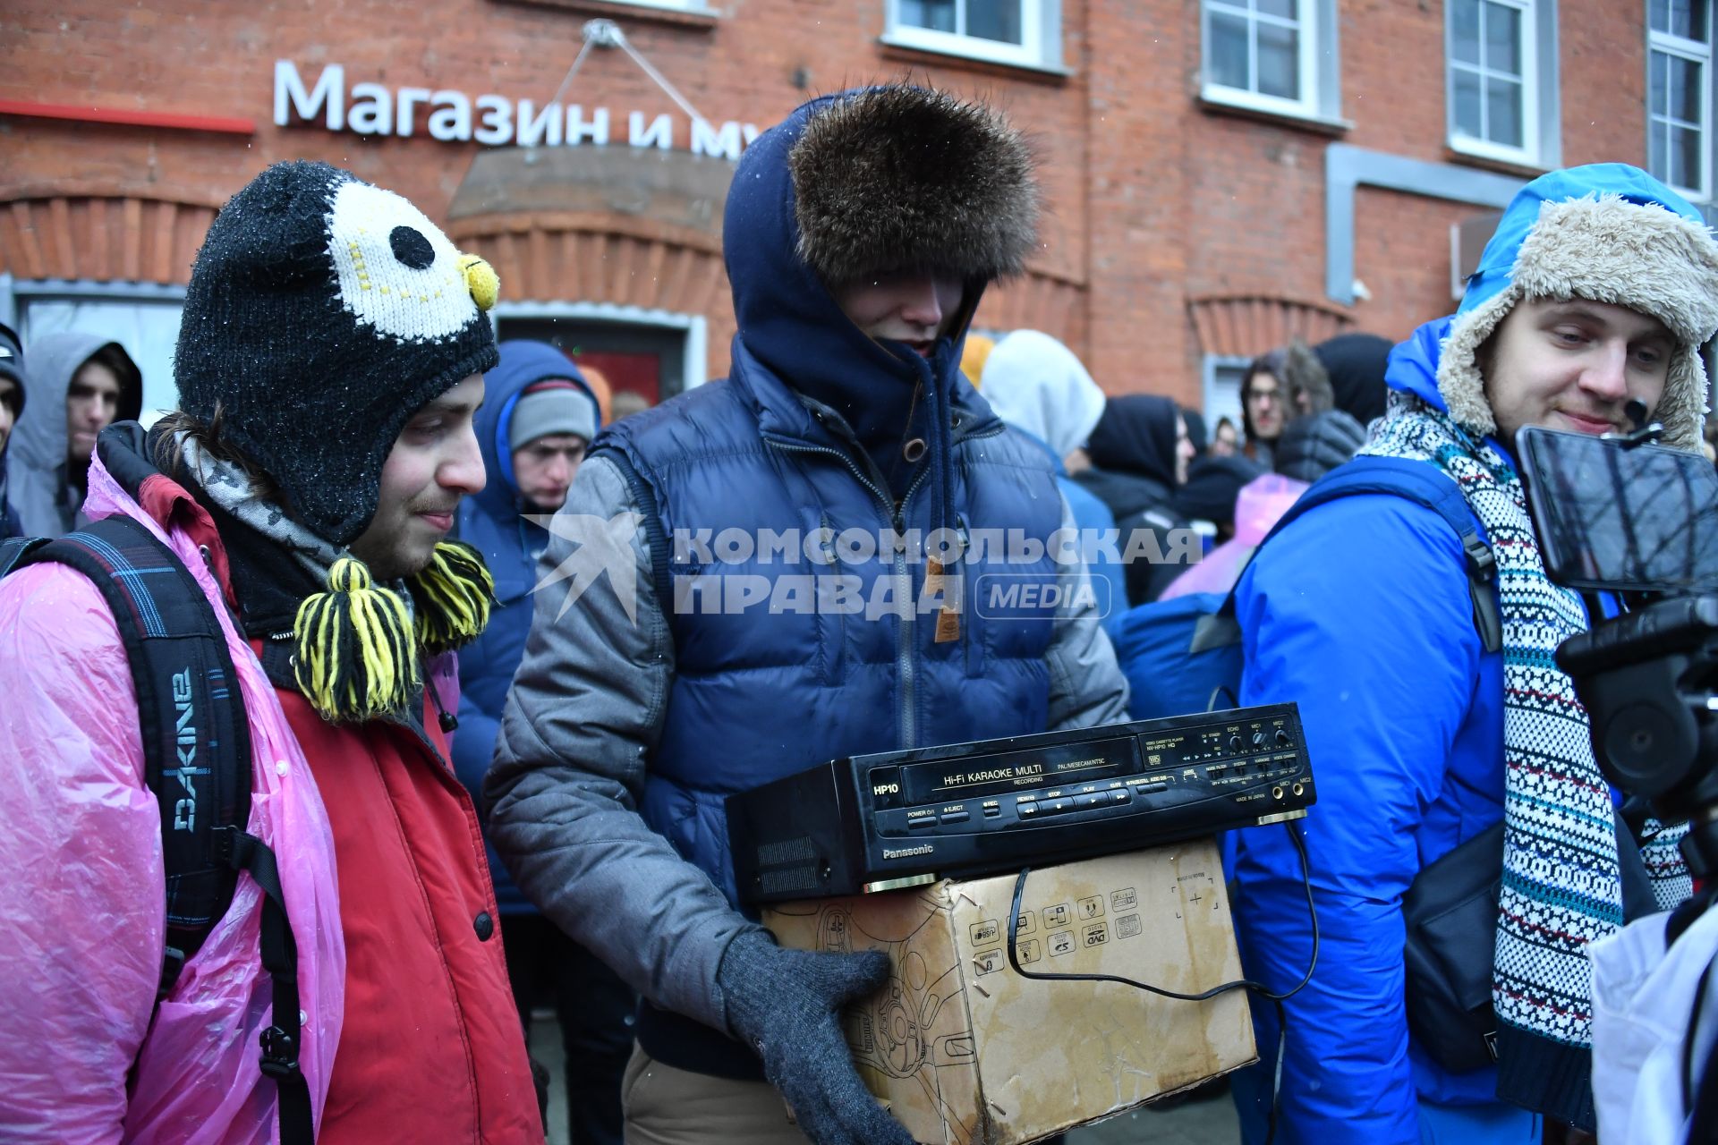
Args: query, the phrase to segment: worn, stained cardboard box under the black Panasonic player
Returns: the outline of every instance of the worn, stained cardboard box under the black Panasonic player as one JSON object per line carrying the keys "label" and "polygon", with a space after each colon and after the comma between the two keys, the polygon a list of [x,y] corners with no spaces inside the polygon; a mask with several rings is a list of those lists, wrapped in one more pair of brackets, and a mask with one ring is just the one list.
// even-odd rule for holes
{"label": "worn, stained cardboard box under the black Panasonic player", "polygon": [[[1242,991],[1185,1003],[1008,966],[1015,875],[783,903],[783,946],[886,951],[890,982],[845,1016],[859,1073],[917,1142],[1015,1145],[1254,1061]],[[1240,977],[1211,839],[1033,870],[1027,972],[1113,973],[1184,994]]]}

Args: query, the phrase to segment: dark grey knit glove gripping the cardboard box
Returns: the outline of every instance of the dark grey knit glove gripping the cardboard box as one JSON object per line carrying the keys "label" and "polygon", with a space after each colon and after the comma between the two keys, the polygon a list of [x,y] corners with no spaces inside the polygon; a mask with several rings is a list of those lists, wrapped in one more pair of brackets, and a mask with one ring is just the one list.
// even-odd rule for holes
{"label": "dark grey knit glove gripping the cardboard box", "polygon": [[728,1028],[763,1057],[814,1145],[912,1145],[854,1069],[840,1008],[888,980],[888,956],[782,949],[766,932],[728,942],[716,966]]}

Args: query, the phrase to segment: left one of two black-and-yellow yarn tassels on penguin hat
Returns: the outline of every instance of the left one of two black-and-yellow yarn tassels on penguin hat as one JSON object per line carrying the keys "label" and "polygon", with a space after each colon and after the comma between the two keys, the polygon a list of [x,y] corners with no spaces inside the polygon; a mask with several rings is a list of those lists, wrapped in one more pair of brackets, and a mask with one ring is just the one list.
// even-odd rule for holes
{"label": "left one of two black-and-yellow yarn tassels on penguin hat", "polygon": [[359,723],[405,709],[419,682],[412,620],[362,561],[337,560],[328,591],[299,604],[294,630],[294,675],[323,719]]}

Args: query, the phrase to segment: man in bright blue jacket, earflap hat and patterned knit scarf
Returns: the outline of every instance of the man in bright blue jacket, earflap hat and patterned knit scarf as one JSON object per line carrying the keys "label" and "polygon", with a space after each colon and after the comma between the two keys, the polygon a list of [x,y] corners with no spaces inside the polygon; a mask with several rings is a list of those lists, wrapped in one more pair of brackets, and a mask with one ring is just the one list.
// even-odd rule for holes
{"label": "man in bright blue jacket, earflap hat and patterned knit scarf", "polygon": [[[1496,565],[1502,647],[1476,627],[1457,532],[1407,498],[1319,505],[1242,575],[1240,700],[1301,706],[1319,785],[1297,824],[1318,968],[1285,1003],[1278,1140],[1538,1142],[1539,1118],[1548,1140],[1594,1130],[1587,944],[1689,893],[1684,827],[1649,824],[1641,848],[1617,827],[1586,711],[1553,663],[1587,613],[1546,579],[1515,433],[1624,431],[1639,400],[1665,445],[1697,448],[1715,330],[1718,244],[1680,196],[1618,163],[1532,180],[1460,309],[1392,352],[1388,412],[1362,450],[1460,488]],[[1407,1025],[1402,896],[1498,821],[1495,925],[1471,939],[1496,1064],[1455,1073]],[[1313,954],[1301,858],[1283,827],[1239,836],[1242,966],[1283,991]],[[1271,1009],[1254,1018],[1259,1045],[1276,1045]],[[1235,1085],[1249,1142],[1273,1064]]]}

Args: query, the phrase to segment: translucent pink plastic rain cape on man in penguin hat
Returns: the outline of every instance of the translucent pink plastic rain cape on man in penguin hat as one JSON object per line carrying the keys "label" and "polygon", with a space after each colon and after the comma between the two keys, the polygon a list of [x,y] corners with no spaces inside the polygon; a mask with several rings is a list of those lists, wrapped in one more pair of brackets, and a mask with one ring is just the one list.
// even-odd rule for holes
{"label": "translucent pink plastic rain cape on man in penguin hat", "polygon": [[[84,512],[125,513],[165,536],[100,460]],[[237,666],[251,723],[247,831],[280,860],[306,1015],[299,1064],[320,1123],[345,989],[333,836],[273,685],[203,558],[186,536],[165,539],[213,603]],[[125,651],[81,573],[41,565],[0,582],[0,1140],[273,1140],[275,1083],[258,1069],[271,1009],[263,896],[249,875],[155,1006],[161,824],[143,783]]]}

